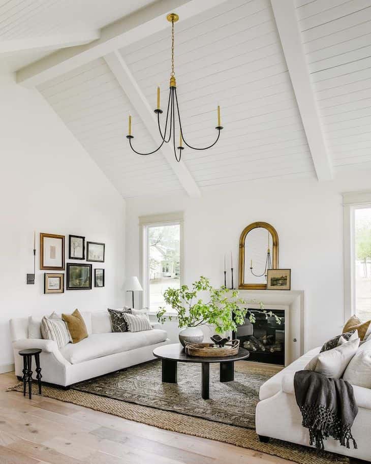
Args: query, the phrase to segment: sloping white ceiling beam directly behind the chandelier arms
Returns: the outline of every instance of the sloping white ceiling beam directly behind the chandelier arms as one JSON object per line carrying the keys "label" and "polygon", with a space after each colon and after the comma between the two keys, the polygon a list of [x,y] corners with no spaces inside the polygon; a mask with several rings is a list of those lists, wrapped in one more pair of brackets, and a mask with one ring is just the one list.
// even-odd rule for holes
{"label": "sloping white ceiling beam directly behind the chandelier arms", "polygon": [[[150,107],[143,92],[139,88],[139,85],[133,74],[123,60],[120,52],[116,50],[112,53],[109,53],[108,55],[104,56],[104,59],[106,60],[107,65],[116,77],[123,91],[125,91],[125,94],[128,96],[131,104],[133,105],[133,108],[135,108],[135,111],[142,119],[142,122],[150,136],[153,138],[154,142],[160,145],[161,139],[157,125],[157,118],[154,115],[153,109]],[[187,166],[185,166],[182,161],[177,163],[175,160],[172,145],[165,143],[161,148],[161,152],[163,153],[165,159],[173,169],[175,175],[179,179],[179,182],[181,183],[184,190],[188,193],[188,195],[191,197],[200,197],[200,189],[198,188],[198,185],[195,179],[192,177]]]}

